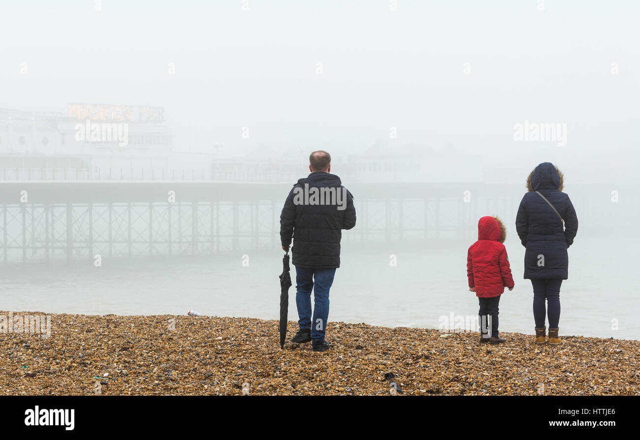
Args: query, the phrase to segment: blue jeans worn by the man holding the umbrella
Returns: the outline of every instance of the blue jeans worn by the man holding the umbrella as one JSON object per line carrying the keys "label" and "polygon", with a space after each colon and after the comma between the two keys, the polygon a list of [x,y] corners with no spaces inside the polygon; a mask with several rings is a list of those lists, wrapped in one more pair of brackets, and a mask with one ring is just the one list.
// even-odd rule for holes
{"label": "blue jeans worn by the man holding the umbrella", "polygon": [[[296,306],[298,325],[311,327],[311,339],[324,340],[326,321],[329,318],[329,289],[333,284],[335,269],[309,269],[296,266]],[[314,291],[314,319],[311,320],[311,290]],[[312,325],[313,323],[313,325]]]}

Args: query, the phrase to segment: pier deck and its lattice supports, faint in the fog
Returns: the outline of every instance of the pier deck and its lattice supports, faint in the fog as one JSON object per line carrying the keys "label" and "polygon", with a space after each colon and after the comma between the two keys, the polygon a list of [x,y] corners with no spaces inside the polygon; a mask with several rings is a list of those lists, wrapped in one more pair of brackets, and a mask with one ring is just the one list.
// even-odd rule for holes
{"label": "pier deck and its lattice supports, faint in the fog", "polygon": [[[509,234],[522,184],[346,185],[357,224],[343,242],[424,246],[476,237],[498,215]],[[258,182],[0,182],[0,265],[131,256],[216,255],[280,248],[280,210],[292,184]],[[611,188],[611,190],[609,189]],[[617,202],[611,191],[618,191]],[[575,184],[580,231],[635,230],[640,191]],[[622,226],[620,226],[622,225]]]}

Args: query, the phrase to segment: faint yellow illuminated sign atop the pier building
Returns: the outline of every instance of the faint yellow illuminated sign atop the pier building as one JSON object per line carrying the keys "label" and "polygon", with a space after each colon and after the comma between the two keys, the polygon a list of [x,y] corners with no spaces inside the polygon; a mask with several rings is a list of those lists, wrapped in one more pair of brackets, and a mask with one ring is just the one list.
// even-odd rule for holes
{"label": "faint yellow illuminated sign atop the pier building", "polygon": [[68,104],[68,116],[77,120],[132,123],[164,122],[163,107]]}

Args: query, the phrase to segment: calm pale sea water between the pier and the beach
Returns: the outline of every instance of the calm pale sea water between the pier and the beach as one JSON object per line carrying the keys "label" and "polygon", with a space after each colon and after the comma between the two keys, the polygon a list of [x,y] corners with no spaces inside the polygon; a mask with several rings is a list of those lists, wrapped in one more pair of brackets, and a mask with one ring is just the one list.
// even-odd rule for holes
{"label": "calm pale sea water between the pier and the beach", "polygon": [[[441,317],[474,316],[468,292],[470,242],[422,252],[343,249],[331,291],[330,320],[378,326],[438,327]],[[524,248],[506,242],[516,287],[500,300],[500,330],[533,333],[532,290],[522,279]],[[397,255],[397,266],[389,264]],[[581,240],[570,248],[561,290],[561,334],[640,340],[639,252],[625,240]],[[76,262],[72,267],[0,269],[0,310],[118,315],[184,314],[278,318],[282,253],[223,258],[133,258]],[[292,276],[294,276],[292,271]],[[289,318],[297,319],[289,291]],[[612,329],[617,320],[618,329]]]}

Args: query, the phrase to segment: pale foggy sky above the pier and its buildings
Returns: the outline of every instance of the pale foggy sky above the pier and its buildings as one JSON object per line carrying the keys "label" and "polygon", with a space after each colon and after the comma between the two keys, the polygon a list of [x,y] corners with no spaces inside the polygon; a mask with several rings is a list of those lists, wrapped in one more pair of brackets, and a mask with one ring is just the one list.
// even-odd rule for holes
{"label": "pale foggy sky above the pier and its buildings", "polygon": [[[640,5],[543,3],[3,0],[0,107],[163,106],[177,150],[221,157],[382,140],[615,178],[639,157]],[[525,120],[567,145],[514,141]]]}

